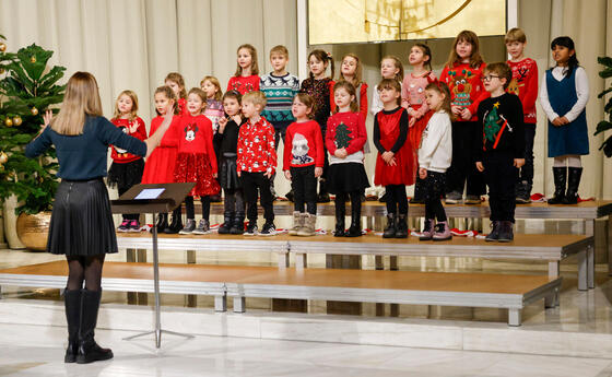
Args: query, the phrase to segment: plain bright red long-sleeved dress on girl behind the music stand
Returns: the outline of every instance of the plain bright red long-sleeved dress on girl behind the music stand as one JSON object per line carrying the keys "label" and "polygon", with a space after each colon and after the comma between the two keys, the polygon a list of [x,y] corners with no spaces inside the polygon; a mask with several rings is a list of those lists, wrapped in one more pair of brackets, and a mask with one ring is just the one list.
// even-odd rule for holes
{"label": "plain bright red long-sleeved dress on girl behind the music stand", "polygon": [[[151,120],[151,130],[149,134],[155,133],[164,121],[163,117],[155,117]],[[144,173],[142,174],[143,184],[173,184],[174,166],[176,163],[176,154],[178,146],[178,127],[180,126],[180,116],[174,116],[170,127],[162,138],[162,142],[146,158],[144,164]]]}

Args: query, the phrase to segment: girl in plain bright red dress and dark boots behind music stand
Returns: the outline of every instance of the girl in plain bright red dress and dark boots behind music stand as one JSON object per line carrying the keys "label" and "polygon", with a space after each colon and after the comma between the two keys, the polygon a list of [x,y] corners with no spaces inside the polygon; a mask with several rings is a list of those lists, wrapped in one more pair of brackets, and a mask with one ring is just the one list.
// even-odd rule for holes
{"label": "girl in plain bright red dress and dark boots behind music stand", "polygon": [[[153,134],[164,121],[164,115],[166,114],[168,104],[173,106],[175,115],[173,117],[170,128],[164,134],[162,142],[146,158],[146,163],[144,164],[144,173],[142,174],[142,182],[172,184],[174,182],[174,165],[176,163],[178,146],[178,136],[176,131],[178,130],[180,122],[180,116],[177,115],[178,107],[175,106],[176,94],[174,94],[173,90],[169,86],[160,86],[155,90],[154,98],[155,113],[157,113],[157,117],[151,120],[150,134]],[[160,216],[157,217],[157,224],[155,225],[158,233],[178,233],[178,231],[180,231],[180,227],[183,227],[183,221],[180,219],[180,207],[178,211],[179,215],[174,215],[172,226],[168,225],[167,213],[160,213]]]}

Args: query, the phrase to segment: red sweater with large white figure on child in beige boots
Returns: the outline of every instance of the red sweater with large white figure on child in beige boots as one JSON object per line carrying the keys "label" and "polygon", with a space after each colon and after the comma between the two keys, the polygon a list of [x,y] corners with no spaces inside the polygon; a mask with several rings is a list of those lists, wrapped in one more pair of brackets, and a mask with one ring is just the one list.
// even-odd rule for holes
{"label": "red sweater with large white figure on child in beige boots", "polygon": [[291,123],[286,129],[284,145],[283,170],[310,165],[323,167],[323,138],[316,120]]}

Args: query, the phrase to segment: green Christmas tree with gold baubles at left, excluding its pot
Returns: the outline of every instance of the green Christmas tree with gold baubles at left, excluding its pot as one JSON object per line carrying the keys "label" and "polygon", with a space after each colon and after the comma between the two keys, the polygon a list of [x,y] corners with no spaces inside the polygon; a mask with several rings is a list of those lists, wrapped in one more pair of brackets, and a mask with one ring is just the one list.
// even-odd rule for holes
{"label": "green Christmas tree with gold baubles at left, excluding its pot", "polygon": [[57,189],[55,150],[26,158],[25,145],[40,131],[43,114],[61,103],[63,67],[48,68],[52,51],[31,45],[7,52],[0,36],[0,198],[15,195],[17,213],[38,213],[51,207]]}

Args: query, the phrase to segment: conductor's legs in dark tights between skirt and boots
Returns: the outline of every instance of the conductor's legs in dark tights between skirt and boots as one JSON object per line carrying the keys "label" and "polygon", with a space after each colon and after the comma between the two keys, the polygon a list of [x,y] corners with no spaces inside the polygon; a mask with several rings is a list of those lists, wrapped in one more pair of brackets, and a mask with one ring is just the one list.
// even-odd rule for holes
{"label": "conductor's legs in dark tights between skirt and boots", "polygon": [[104,254],[97,256],[66,256],[68,261],[69,291],[83,288],[83,281],[87,291],[99,291],[102,288],[102,267],[104,266]]}

